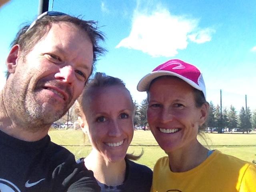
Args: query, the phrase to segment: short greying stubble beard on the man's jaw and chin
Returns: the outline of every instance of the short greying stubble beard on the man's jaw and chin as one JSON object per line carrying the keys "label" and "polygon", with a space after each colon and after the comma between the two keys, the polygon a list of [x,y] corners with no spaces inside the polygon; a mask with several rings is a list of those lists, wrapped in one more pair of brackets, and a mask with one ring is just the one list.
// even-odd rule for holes
{"label": "short greying stubble beard on the man's jaw and chin", "polygon": [[[47,84],[62,88],[62,90],[65,90],[68,94],[68,101],[64,104],[60,104],[62,107],[54,109],[52,104],[58,104],[58,101],[55,98],[48,98],[48,101],[42,104],[36,100],[37,91],[40,91],[46,82]],[[15,87],[20,88],[16,89]],[[54,121],[66,114],[69,107],[72,105],[71,90],[64,85],[56,83],[54,80],[41,80],[33,88],[29,88],[26,84],[23,84],[22,86],[22,83],[20,83],[17,86],[12,86],[8,95],[12,100],[11,115],[13,120],[20,126],[20,128],[30,132],[38,132],[48,129]]]}

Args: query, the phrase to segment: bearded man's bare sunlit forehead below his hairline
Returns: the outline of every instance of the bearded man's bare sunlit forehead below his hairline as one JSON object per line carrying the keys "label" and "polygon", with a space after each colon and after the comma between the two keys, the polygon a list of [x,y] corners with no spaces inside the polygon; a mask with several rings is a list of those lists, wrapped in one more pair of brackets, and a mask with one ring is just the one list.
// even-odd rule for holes
{"label": "bearded man's bare sunlit forehead below his hairline", "polygon": [[38,41],[32,52],[52,53],[62,59],[81,63],[93,62],[93,46],[89,36],[83,30],[69,22],[53,23],[48,33]]}

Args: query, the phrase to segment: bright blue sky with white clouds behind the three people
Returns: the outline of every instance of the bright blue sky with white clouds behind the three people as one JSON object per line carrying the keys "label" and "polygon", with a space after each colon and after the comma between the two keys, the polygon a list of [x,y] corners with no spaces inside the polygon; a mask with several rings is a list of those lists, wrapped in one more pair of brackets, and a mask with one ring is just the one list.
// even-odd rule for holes
{"label": "bright blue sky with white clouds behind the three people", "polygon": [[[222,89],[224,107],[239,111],[247,94],[256,109],[255,0],[54,0],[53,10],[98,21],[108,52],[96,70],[124,80],[139,103],[146,98],[136,90],[140,78],[178,58],[200,68],[208,101],[219,104]],[[10,42],[37,12],[38,0],[11,0],[0,9],[0,89]]]}

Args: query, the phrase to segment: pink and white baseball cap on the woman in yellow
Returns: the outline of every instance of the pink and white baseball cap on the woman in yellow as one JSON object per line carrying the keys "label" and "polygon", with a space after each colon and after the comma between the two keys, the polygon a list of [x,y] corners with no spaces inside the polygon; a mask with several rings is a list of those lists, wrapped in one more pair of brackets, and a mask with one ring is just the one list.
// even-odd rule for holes
{"label": "pink and white baseball cap on the woman in yellow", "polygon": [[179,59],[171,59],[157,66],[151,73],[144,76],[137,85],[138,91],[147,91],[150,83],[160,76],[176,76],[192,87],[200,90],[206,98],[206,91],[202,73],[196,66],[188,64]]}

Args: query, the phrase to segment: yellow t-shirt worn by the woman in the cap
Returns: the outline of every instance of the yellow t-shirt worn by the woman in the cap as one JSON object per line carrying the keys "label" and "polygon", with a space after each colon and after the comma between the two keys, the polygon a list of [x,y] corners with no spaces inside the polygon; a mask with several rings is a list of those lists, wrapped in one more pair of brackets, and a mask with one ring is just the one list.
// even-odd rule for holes
{"label": "yellow t-shirt worn by the woman in the cap", "polygon": [[162,157],[151,192],[256,192],[256,165],[215,150],[196,168],[172,172],[168,157]]}

